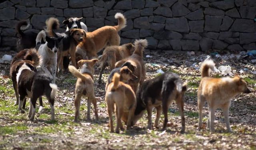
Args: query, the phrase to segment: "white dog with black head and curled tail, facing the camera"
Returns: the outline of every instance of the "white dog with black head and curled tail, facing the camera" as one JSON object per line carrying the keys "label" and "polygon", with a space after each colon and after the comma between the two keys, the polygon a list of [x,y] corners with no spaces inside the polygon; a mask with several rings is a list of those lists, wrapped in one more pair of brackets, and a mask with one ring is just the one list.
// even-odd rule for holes
{"label": "white dog with black head and curled tail, facing the camera", "polygon": [[[47,22],[47,21],[46,21]],[[41,44],[41,39],[45,37],[46,43]],[[52,83],[55,83],[56,68],[57,68],[57,52],[61,38],[50,38],[46,36],[44,30],[40,31],[36,37],[36,49],[40,55],[41,69],[52,75]],[[50,73],[51,72],[51,73]]]}

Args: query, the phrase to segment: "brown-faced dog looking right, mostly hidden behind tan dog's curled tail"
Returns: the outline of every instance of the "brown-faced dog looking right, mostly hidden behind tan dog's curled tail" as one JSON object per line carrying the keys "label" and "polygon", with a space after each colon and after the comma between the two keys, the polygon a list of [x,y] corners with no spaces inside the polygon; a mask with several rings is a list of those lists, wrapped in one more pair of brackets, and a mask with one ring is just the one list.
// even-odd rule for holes
{"label": "brown-faced dog looking right, mostly hidden behind tan dog's curled tail", "polygon": [[120,81],[124,82],[125,84],[128,84],[128,81],[135,81],[138,79],[138,77],[136,77],[134,74],[132,74],[132,70],[130,70],[127,66],[124,66],[122,68],[114,68],[109,76],[108,76],[108,80],[106,83],[106,91],[108,89],[108,85],[112,82],[112,78],[114,76],[115,73],[120,74]]}

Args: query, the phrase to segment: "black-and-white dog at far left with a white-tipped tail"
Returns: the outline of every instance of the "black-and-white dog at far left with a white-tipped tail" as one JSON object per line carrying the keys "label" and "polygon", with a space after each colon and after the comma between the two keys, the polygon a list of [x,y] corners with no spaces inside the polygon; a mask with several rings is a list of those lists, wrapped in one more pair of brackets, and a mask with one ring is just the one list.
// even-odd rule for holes
{"label": "black-and-white dog at far left with a white-tipped tail", "polygon": [[[34,53],[36,50],[34,50]],[[34,120],[36,112],[36,100],[45,94],[51,107],[51,120],[54,120],[54,98],[57,92],[56,84],[52,84],[52,77],[49,74],[43,72],[36,72],[36,61],[23,60],[18,62],[18,73],[16,81],[18,85],[19,94],[19,106],[18,110],[21,113],[25,113],[21,106],[23,105],[26,97],[30,98],[30,108],[28,113],[29,120]]]}

